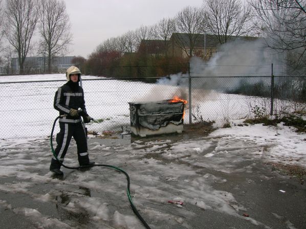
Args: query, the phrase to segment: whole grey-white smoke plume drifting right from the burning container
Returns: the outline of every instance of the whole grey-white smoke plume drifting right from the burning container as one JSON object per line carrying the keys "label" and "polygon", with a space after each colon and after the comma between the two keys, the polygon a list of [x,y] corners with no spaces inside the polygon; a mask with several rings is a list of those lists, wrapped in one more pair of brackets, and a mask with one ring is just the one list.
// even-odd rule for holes
{"label": "whole grey-white smoke plume drifting right from the burning container", "polygon": [[[244,76],[271,76],[273,63],[273,74],[283,71],[281,58],[271,49],[265,47],[265,40],[245,41],[237,39],[221,45],[217,53],[214,53],[209,61],[199,57],[190,59],[190,76],[192,77],[192,88],[201,88],[201,97],[205,96],[207,89],[236,87]],[[280,70],[280,71],[279,71]],[[158,101],[171,99],[179,96],[188,99],[188,73],[173,74],[157,81],[151,93],[142,98],[142,101]],[[236,77],[221,80],[220,77]],[[253,78],[252,82],[260,81],[261,78]],[[173,88],[166,89],[167,86]],[[187,88],[187,90],[186,90]],[[168,93],[161,93],[165,89]],[[195,91],[194,91],[195,92]],[[171,95],[170,95],[171,94]],[[166,98],[165,98],[166,97]]]}

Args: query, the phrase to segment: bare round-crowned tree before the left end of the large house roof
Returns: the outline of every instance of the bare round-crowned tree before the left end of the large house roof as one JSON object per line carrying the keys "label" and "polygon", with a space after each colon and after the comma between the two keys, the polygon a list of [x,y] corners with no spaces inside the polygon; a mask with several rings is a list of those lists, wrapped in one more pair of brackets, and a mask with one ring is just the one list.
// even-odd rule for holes
{"label": "bare round-crowned tree before the left end of the large house roof", "polygon": [[187,56],[191,57],[196,40],[203,32],[202,10],[196,7],[185,7],[175,18],[175,31],[188,35],[188,41],[181,39],[185,36],[176,36],[176,41]]}

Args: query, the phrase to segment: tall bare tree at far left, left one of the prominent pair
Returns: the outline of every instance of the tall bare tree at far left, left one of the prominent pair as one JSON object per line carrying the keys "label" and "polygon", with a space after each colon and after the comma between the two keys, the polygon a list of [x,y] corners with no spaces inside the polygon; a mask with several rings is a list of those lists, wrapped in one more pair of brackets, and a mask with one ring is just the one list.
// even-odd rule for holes
{"label": "tall bare tree at far left, left one of the prominent pair", "polygon": [[36,0],[6,0],[5,35],[18,55],[20,74],[24,74],[24,63],[31,50],[31,40],[37,23]]}

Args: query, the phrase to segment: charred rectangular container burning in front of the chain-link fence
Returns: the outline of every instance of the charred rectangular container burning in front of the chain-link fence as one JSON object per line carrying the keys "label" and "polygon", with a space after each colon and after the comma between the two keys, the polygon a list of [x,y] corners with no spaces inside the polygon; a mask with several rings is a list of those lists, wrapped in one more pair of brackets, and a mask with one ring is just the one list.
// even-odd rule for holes
{"label": "charred rectangular container burning in front of the chain-link fence", "polygon": [[132,133],[141,137],[181,133],[186,102],[186,100],[169,99],[158,102],[128,103]]}

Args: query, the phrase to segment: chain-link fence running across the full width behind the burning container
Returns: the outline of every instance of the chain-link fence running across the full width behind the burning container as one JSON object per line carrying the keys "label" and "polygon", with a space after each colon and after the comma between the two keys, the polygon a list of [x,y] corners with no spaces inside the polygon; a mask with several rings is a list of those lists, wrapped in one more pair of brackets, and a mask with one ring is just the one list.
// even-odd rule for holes
{"label": "chain-link fence running across the full width behind the burning container", "polygon": [[[62,79],[62,74],[59,77]],[[64,83],[64,80],[0,82],[0,138],[50,135],[53,121],[58,116],[58,111],[53,108],[55,91]],[[84,77],[82,87],[86,109],[96,120],[86,127],[97,133],[109,130],[130,132],[128,102],[160,101],[179,96],[188,101],[185,124],[214,121],[219,127],[231,120],[305,111],[306,102],[304,76],[202,77],[181,74],[137,80]]]}

